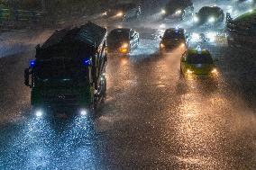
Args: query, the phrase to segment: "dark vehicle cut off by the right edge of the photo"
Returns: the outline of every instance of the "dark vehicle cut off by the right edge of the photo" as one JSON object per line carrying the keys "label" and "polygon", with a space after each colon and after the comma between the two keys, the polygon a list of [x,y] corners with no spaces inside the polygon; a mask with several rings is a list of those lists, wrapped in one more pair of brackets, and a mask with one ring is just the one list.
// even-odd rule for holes
{"label": "dark vehicle cut off by the right edge of the photo", "polygon": [[256,10],[244,13],[233,19],[226,15],[226,32],[229,46],[255,47],[256,44]]}

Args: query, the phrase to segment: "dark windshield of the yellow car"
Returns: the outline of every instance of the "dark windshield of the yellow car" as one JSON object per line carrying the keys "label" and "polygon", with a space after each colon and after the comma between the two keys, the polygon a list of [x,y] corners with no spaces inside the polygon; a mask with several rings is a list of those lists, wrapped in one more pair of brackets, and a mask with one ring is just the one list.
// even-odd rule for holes
{"label": "dark windshield of the yellow car", "polygon": [[213,64],[213,58],[210,54],[193,54],[187,57],[188,64]]}

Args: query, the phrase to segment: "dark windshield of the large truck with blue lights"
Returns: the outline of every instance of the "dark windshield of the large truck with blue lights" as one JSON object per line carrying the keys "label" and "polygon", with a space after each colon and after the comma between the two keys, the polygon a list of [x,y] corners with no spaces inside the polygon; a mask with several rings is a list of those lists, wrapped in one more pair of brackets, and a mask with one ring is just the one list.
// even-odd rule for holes
{"label": "dark windshield of the large truck with blue lights", "polygon": [[82,62],[70,59],[39,61],[35,67],[36,77],[41,79],[87,80],[87,70]]}

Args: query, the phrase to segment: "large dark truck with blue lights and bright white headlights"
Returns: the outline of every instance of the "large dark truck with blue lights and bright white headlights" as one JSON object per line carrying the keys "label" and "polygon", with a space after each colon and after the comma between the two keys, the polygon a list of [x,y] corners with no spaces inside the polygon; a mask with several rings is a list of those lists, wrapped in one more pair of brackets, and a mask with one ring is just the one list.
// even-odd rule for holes
{"label": "large dark truck with blue lights and bright white headlights", "polygon": [[[31,87],[31,104],[37,116],[52,108],[72,107],[93,112],[105,98],[107,62],[105,28],[93,22],[55,31],[24,70]],[[51,111],[51,110],[50,110]]]}

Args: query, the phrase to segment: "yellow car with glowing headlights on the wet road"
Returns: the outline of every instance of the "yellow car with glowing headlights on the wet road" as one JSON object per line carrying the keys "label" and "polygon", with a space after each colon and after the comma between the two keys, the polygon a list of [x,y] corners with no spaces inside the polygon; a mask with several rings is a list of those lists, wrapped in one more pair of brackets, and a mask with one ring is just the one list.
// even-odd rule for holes
{"label": "yellow car with glowing headlights on the wet road", "polygon": [[184,76],[215,76],[218,71],[215,61],[206,49],[187,49],[180,60],[180,71]]}

